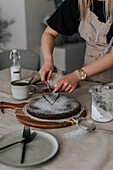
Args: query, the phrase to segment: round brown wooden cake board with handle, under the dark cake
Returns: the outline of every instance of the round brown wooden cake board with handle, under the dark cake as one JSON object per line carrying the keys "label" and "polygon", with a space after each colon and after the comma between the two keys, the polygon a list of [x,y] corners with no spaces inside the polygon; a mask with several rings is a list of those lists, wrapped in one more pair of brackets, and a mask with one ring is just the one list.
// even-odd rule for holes
{"label": "round brown wooden cake board with handle, under the dark cake", "polygon": [[[38,127],[38,128],[62,128],[62,127],[67,127],[75,124],[75,122],[71,120],[66,120],[64,122],[50,122],[50,121],[38,121],[34,120],[30,117],[28,117],[23,111],[23,107],[27,103],[20,103],[20,104],[15,104],[15,103],[8,103],[8,102],[0,102],[0,108],[12,108],[15,109],[15,115],[16,118],[23,124],[30,125],[33,127]],[[76,118],[78,119],[79,117],[84,117],[86,116],[86,110],[83,109],[81,114]]]}

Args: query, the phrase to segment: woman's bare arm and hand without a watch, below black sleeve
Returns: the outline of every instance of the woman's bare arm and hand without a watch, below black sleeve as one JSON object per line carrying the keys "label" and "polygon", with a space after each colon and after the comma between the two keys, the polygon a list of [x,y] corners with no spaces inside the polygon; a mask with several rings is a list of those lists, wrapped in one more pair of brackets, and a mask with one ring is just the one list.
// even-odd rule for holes
{"label": "woman's bare arm and hand without a watch, below black sleeve", "polygon": [[50,77],[53,73],[54,64],[53,64],[53,49],[55,45],[55,38],[58,36],[58,33],[51,29],[49,26],[45,29],[42,38],[41,38],[41,48],[44,57],[44,63],[39,70],[41,81],[47,82],[50,80]]}

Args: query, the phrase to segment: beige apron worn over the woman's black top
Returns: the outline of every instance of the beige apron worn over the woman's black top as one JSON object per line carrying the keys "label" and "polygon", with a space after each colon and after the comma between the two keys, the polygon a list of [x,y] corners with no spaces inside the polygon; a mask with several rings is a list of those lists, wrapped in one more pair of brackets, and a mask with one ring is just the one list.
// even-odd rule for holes
{"label": "beige apron worn over the woman's black top", "polygon": [[[79,33],[86,41],[86,52],[84,65],[90,64],[99,57],[110,52],[113,43],[113,37],[107,44],[106,35],[111,27],[110,18],[106,23],[100,22],[98,17],[88,8],[85,20],[81,20]],[[113,81],[113,68],[89,78],[91,81],[102,83]]]}

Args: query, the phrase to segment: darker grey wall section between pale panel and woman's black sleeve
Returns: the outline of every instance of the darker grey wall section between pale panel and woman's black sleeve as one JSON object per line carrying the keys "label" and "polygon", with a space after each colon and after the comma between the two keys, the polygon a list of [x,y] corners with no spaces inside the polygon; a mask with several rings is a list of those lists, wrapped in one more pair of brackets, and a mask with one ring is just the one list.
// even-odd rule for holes
{"label": "darker grey wall section between pale panel and woman's black sleeve", "polygon": [[41,35],[45,29],[42,20],[46,15],[53,13],[55,5],[53,0],[25,0],[25,4],[28,48],[37,51],[37,47],[40,45]]}

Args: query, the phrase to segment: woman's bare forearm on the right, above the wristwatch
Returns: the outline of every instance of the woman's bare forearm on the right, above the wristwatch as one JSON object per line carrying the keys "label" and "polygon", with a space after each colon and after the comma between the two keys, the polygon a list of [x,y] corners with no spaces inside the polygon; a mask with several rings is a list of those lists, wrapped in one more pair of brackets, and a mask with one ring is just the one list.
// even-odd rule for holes
{"label": "woman's bare forearm on the right, above the wristwatch", "polygon": [[108,54],[98,58],[91,64],[88,64],[87,66],[84,66],[82,68],[87,73],[88,77],[91,77],[98,73],[106,71],[111,67],[113,67],[113,47]]}

